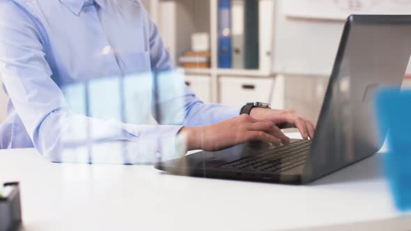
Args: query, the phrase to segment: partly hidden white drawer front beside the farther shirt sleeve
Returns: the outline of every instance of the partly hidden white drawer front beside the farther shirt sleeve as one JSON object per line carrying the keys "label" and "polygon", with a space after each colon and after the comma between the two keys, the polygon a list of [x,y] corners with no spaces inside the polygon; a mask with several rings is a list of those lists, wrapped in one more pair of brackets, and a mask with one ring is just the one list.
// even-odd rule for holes
{"label": "partly hidden white drawer front beside the farther shirt sleeve", "polygon": [[206,104],[211,102],[211,78],[208,75],[185,75],[185,84]]}

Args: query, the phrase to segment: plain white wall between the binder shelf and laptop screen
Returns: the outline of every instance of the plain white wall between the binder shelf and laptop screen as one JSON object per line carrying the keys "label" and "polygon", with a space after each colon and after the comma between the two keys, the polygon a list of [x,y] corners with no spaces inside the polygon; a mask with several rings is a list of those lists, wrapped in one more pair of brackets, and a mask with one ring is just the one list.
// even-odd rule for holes
{"label": "plain white wall between the binder shelf and laptop screen", "polygon": [[284,1],[288,0],[275,1],[274,72],[329,75],[344,22],[286,17]]}

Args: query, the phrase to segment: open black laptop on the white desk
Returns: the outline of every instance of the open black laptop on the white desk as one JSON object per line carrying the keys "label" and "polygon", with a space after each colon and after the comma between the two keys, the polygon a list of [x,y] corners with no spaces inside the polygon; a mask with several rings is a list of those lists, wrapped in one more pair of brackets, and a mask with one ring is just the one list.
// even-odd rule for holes
{"label": "open black laptop on the white desk", "polygon": [[[336,55],[313,141],[275,147],[244,143],[163,161],[171,174],[307,184],[380,150],[374,98],[401,88],[411,55],[411,15],[350,15]],[[383,131],[384,132],[384,131]]]}

